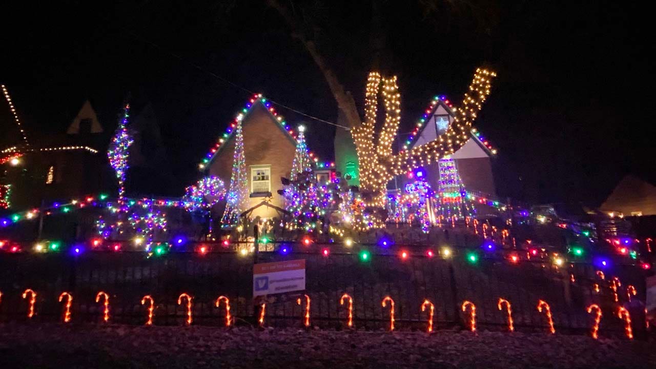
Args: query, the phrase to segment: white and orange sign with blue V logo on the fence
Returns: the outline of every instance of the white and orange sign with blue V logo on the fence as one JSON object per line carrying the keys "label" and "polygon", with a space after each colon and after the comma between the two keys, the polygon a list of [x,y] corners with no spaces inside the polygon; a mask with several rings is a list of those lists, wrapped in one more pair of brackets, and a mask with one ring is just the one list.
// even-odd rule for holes
{"label": "white and orange sign with blue V logo on the fence", "polygon": [[253,297],[305,290],[305,259],[253,265]]}

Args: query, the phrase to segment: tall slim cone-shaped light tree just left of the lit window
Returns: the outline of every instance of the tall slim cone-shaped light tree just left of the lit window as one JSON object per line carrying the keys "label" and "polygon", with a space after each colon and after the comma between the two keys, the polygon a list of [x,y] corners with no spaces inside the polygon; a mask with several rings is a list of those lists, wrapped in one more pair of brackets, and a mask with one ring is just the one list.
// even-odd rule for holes
{"label": "tall slim cone-shaped light tree just left of the lit window", "polygon": [[244,156],[244,138],[241,131],[241,120],[237,123],[235,132],[235,153],[230,175],[230,188],[226,195],[226,210],[221,218],[221,227],[235,227],[239,214],[245,210],[248,198],[248,177],[246,173],[246,158]]}

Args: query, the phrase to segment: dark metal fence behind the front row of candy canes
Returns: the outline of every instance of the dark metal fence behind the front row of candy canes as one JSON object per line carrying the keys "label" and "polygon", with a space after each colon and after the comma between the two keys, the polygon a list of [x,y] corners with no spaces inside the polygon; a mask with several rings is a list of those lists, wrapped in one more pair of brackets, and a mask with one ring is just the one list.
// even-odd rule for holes
{"label": "dark metal fence behind the front row of candy canes", "polygon": [[[354,299],[354,325],[367,329],[388,326],[389,307],[381,306],[385,296],[394,299],[396,326],[405,330],[425,330],[427,313],[420,311],[424,299],[435,305],[437,329],[463,326],[466,316],[461,304],[468,300],[476,304],[480,328],[506,330],[506,314],[497,308],[499,297],[512,303],[517,330],[546,330],[545,316],[536,309],[539,299],[550,304],[559,332],[587,331],[592,317],[585,307],[591,303],[604,310],[602,334],[621,334],[623,322],[613,317],[618,304],[629,307],[636,332],[644,328],[644,324],[636,323],[644,322],[638,305],[638,301],[644,301],[644,277],[632,267],[618,266],[613,274],[624,283],[615,303],[610,284],[600,280],[595,269],[585,263],[560,272],[542,263],[508,265],[498,259],[483,258],[471,265],[461,258],[427,257],[419,249],[410,249],[407,259],[392,252],[372,253],[369,260],[361,261],[358,253],[348,251],[344,245],[333,244],[329,257],[294,245],[295,251],[287,255],[259,252],[258,262],[306,260],[304,293],[312,299],[313,326],[343,328],[347,311],[339,299],[348,293]],[[252,255],[243,257],[232,251],[204,255],[172,252],[150,258],[142,252],[85,253],[76,257],[64,253],[4,253],[0,255],[0,320],[27,319],[28,301],[21,294],[31,288],[37,293],[36,315],[32,318],[37,321],[60,320],[63,305],[58,296],[67,291],[73,295],[73,322],[101,322],[102,304],[94,298],[104,291],[110,295],[111,322],[144,324],[146,307],[140,301],[144,295],[151,295],[156,305],[155,324],[184,324],[186,307],[176,300],[186,292],[194,297],[194,324],[224,324],[223,307],[217,309],[214,305],[218,295],[230,297],[237,324],[256,324],[260,301],[252,297],[253,263]],[[599,292],[594,284],[601,284]],[[631,303],[624,289],[628,284],[638,291]],[[300,326],[304,306],[297,305],[298,296],[287,293],[268,297],[266,324]]]}

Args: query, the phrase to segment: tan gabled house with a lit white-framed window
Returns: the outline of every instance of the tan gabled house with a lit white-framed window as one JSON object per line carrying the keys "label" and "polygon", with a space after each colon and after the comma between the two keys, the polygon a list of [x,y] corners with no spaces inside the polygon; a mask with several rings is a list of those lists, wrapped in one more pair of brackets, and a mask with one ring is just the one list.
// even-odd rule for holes
{"label": "tan gabled house with a lit white-framed window", "polygon": [[[251,99],[240,115],[249,188],[245,207],[248,209],[265,199],[275,206],[285,207],[284,199],[277,190],[283,188],[281,177],[289,177],[291,173],[297,143],[292,136],[293,131],[261,96]],[[234,161],[236,140],[235,135],[231,134],[234,127],[236,122],[228,129],[225,138],[219,140],[215,152],[201,164],[209,175],[216,175],[226,186],[230,186]],[[252,216],[276,217],[277,212],[263,206],[255,209]]]}

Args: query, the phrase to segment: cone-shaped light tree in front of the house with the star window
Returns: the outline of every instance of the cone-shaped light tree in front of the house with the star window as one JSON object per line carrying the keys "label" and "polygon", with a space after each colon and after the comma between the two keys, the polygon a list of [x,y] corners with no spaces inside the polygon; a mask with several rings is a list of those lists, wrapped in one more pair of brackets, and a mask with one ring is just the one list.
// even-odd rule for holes
{"label": "cone-shaped light tree in front of the house with the star window", "polygon": [[440,169],[438,215],[447,218],[453,217],[453,215],[459,218],[472,215],[474,205],[467,197],[464,183],[462,183],[453,158],[447,156],[438,160],[438,167]]}

